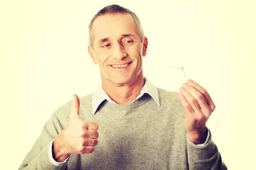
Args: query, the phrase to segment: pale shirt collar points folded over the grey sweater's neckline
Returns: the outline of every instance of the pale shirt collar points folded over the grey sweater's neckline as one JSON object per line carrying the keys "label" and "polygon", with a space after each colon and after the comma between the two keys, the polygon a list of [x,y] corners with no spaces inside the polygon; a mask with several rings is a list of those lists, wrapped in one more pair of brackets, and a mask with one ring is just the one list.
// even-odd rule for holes
{"label": "pale shirt collar points folded over the grey sweater's neckline", "polygon": [[[140,95],[137,96],[136,99],[140,98],[143,96],[144,93],[149,94],[156,102],[157,105],[160,106],[160,101],[159,101],[159,95],[157,91],[157,87],[154,86],[146,77],[145,78],[145,84],[140,92]],[[93,108],[93,114],[96,113],[97,108],[99,105],[105,100],[112,100],[108,94],[103,90],[102,84],[99,86],[99,88],[93,93],[92,96],[92,108]],[[134,99],[134,100],[136,100]],[[113,101],[113,100],[112,100]]]}

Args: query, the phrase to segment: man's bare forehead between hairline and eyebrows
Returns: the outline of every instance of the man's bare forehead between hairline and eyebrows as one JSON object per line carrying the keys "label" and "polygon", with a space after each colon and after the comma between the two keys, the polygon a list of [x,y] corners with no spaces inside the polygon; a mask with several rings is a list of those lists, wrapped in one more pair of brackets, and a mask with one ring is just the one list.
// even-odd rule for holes
{"label": "man's bare forehead between hairline and eyebrows", "polygon": [[136,24],[131,14],[105,14],[97,17],[92,26],[94,40],[116,37],[122,34],[137,33]]}

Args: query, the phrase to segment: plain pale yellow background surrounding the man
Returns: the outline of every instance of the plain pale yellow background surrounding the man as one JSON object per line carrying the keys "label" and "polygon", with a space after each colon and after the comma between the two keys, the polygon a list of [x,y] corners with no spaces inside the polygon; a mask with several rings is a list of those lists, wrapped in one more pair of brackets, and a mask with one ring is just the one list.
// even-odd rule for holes
{"label": "plain pale yellow background surrounding the man", "polygon": [[[44,0],[0,3],[0,169],[18,169],[53,111],[93,93],[99,66],[87,52],[97,11],[134,11],[148,37],[144,75],[171,83],[163,65],[180,65],[207,89],[216,109],[208,122],[230,170],[255,167],[254,1]],[[3,168],[5,167],[5,168]]]}

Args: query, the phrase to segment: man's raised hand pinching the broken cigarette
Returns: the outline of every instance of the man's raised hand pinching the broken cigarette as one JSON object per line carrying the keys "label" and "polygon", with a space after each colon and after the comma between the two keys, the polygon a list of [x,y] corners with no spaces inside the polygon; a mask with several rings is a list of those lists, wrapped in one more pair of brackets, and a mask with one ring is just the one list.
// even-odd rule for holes
{"label": "man's raised hand pinching the broken cigarette", "polygon": [[188,138],[195,144],[203,144],[207,139],[206,122],[215,110],[215,105],[208,92],[192,79],[183,83],[178,94],[186,111],[184,127]]}

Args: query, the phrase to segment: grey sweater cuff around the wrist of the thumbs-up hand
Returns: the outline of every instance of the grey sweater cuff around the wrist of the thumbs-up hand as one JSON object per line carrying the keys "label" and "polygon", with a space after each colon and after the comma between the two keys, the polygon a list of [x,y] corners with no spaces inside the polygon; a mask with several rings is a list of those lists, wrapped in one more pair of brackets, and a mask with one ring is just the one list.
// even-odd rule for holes
{"label": "grey sweater cuff around the wrist of the thumbs-up hand", "polygon": [[49,144],[38,154],[38,166],[41,170],[64,170],[67,162],[61,165],[52,164],[49,159]]}

